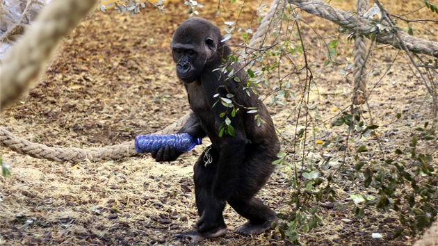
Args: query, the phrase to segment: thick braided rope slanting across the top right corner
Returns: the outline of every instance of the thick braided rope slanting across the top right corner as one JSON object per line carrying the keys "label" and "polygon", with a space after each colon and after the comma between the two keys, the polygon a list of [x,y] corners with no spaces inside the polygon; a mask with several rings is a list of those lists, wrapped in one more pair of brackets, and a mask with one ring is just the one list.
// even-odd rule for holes
{"label": "thick braided rope slanting across the top right corner", "polygon": [[[288,0],[289,3],[298,6],[298,8],[310,13],[311,15],[317,15],[328,19],[343,28],[358,33],[359,35],[364,35],[369,38],[370,30],[373,28],[368,23],[368,20],[364,17],[352,15],[343,10],[336,10],[332,6],[319,0]],[[438,57],[438,42],[432,42],[428,40],[422,40],[421,38],[416,38],[411,36],[400,29],[397,29],[400,34],[401,39],[405,42],[405,45],[409,51],[417,54],[426,54],[430,56]],[[396,39],[396,35],[391,35],[391,33],[382,32],[376,33],[376,41],[382,44],[391,44],[392,46],[400,49],[400,42]]]}

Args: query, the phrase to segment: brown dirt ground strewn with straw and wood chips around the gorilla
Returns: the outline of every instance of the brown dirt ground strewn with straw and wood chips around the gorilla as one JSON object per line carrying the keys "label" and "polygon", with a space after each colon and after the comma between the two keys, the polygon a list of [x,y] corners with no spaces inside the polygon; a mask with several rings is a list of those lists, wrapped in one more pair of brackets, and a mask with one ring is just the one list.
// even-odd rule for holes
{"label": "brown dirt ground strewn with straw and wood chips around the gorilla", "polygon": [[[352,1],[336,1],[343,10],[353,8]],[[422,3],[423,1],[419,1]],[[384,2],[386,3],[386,2]],[[200,16],[211,19],[225,30],[224,21],[235,20],[238,3],[220,5],[220,17],[215,17],[218,3],[206,2]],[[269,6],[270,3],[266,2]],[[392,5],[400,11],[406,6]],[[245,1],[239,25],[257,28],[255,14],[259,1]],[[44,76],[22,99],[1,113],[0,126],[17,136],[51,147],[90,148],[130,141],[138,134],[154,133],[179,119],[188,110],[184,87],[175,75],[170,54],[170,40],[175,28],[188,17],[182,3],[168,3],[167,13],[159,15],[152,8],[143,9],[133,18],[117,13],[95,11],[69,37]],[[346,37],[336,48],[338,67],[323,67],[325,49],[318,48],[316,34],[330,37],[337,27],[318,17],[300,13],[310,26],[303,25],[305,40],[314,44],[311,62],[318,93],[311,101],[321,119],[311,119],[309,125],[318,127],[314,138],[306,143],[307,156],[319,161],[332,155],[332,164],[339,165],[347,153],[346,170],[336,179],[336,202],[343,204],[339,211],[333,206],[321,206],[318,212],[323,225],[300,235],[302,245],[412,245],[414,238],[402,236],[391,240],[400,227],[395,211],[367,210],[362,220],[355,218],[350,195],[375,194],[366,190],[360,181],[348,179],[354,170],[352,155],[359,145],[378,149],[376,138],[353,135],[348,148],[334,151],[323,148],[322,142],[334,136],[346,136],[346,127],[330,124],[341,110],[350,104],[351,77],[339,72],[351,59],[352,45]],[[417,15],[422,15],[417,13]],[[436,19],[435,15],[435,19]],[[420,26],[416,35],[437,40],[437,34]],[[438,32],[436,30],[435,32]],[[234,35],[233,44],[242,42]],[[371,56],[368,69],[368,88],[373,92],[364,110],[368,124],[379,125],[380,150],[375,156],[362,156],[367,162],[390,158],[395,149],[407,149],[416,127],[432,124],[431,99],[421,81],[407,66],[407,58],[391,47],[381,47]],[[398,58],[396,58],[398,56]],[[387,72],[388,64],[396,58]],[[296,60],[302,67],[302,58]],[[383,77],[382,77],[383,76]],[[436,78],[435,78],[436,79]],[[296,98],[303,90],[299,77],[291,88]],[[435,81],[436,83],[436,81]],[[264,91],[264,90],[262,90]],[[267,100],[268,101],[268,100]],[[295,168],[291,142],[305,119],[298,116],[298,102],[289,101],[286,107],[269,108],[282,149],[288,153],[290,165],[277,168],[268,184],[259,192],[278,213],[288,213],[293,189],[289,180]],[[402,117],[396,119],[396,114]],[[371,116],[370,116],[371,115]],[[170,236],[191,229],[197,220],[193,190],[193,163],[208,141],[195,147],[172,163],[156,163],[149,155],[120,161],[100,163],[55,163],[17,154],[0,147],[3,161],[9,163],[12,177],[0,177],[0,245],[182,245],[188,240]],[[302,142],[295,148],[302,152]],[[418,151],[431,154],[438,168],[435,153],[437,141],[419,140]],[[321,161],[321,163],[323,163]],[[337,164],[336,164],[337,163]],[[323,167],[321,167],[323,168]],[[232,208],[225,208],[229,232],[225,238],[205,240],[200,245],[287,245],[277,230],[259,236],[241,236],[234,232],[245,220]],[[382,238],[372,238],[380,233]]]}

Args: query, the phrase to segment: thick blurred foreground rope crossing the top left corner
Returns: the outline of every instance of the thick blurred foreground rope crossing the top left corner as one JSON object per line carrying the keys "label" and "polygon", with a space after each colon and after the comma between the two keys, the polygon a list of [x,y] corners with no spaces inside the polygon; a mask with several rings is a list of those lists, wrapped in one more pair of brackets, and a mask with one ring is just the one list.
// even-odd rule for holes
{"label": "thick blurred foreground rope crossing the top left corner", "polygon": [[0,110],[43,71],[55,47],[95,6],[93,0],[53,0],[8,51],[0,67]]}

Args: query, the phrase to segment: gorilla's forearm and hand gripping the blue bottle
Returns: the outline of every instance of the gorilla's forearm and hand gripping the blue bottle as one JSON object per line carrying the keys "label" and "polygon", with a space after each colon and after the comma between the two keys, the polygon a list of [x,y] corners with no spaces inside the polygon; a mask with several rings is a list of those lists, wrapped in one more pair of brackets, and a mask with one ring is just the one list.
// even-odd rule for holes
{"label": "gorilla's forearm and hand gripping the blue bottle", "polygon": [[[178,133],[188,133],[192,138],[204,138],[206,136],[199,118],[196,117],[193,112],[190,112],[190,117]],[[183,153],[184,152],[175,151],[170,145],[166,145],[165,147],[152,151],[151,155],[155,161],[175,161],[178,156]]]}

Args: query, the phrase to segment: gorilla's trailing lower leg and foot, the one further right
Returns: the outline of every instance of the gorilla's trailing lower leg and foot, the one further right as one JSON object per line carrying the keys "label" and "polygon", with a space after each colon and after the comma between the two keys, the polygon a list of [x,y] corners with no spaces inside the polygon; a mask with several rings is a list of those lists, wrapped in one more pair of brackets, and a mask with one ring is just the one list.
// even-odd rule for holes
{"label": "gorilla's trailing lower leg and foot, the one further right", "polygon": [[237,233],[258,235],[270,229],[273,222],[277,220],[275,212],[255,197],[248,200],[232,198],[227,202],[238,214],[249,220],[243,226],[236,229]]}

